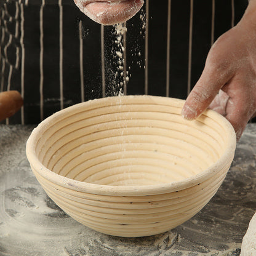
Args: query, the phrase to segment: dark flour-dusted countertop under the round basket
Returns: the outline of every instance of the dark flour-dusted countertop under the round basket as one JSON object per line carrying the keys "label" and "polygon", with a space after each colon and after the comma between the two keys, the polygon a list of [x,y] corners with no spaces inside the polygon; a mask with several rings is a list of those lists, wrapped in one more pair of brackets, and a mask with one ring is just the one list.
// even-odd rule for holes
{"label": "dark flour-dusted countertop under the round basket", "polygon": [[256,211],[256,124],[239,141],[233,164],[214,198],[174,230],[118,238],[90,230],[42,190],[25,155],[33,126],[0,126],[0,255],[216,256],[240,254]]}

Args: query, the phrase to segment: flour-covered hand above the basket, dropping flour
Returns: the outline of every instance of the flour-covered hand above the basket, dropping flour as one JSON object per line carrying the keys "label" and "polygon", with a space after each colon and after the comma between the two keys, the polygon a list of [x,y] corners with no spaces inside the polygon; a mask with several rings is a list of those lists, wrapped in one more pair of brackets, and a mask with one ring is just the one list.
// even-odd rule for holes
{"label": "flour-covered hand above the basket, dropping flour", "polygon": [[143,0],[74,0],[81,12],[103,25],[126,22],[137,14],[143,2]]}

